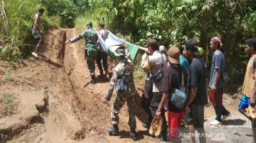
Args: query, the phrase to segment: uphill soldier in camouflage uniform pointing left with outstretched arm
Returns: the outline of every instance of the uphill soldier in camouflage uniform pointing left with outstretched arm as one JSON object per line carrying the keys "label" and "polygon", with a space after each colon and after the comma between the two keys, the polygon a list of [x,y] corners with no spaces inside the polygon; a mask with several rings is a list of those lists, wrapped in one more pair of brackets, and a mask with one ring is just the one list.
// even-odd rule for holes
{"label": "uphill soldier in camouflage uniform pointing left with outstretched arm", "polygon": [[91,75],[91,83],[95,84],[95,65],[94,61],[97,58],[97,40],[98,40],[98,34],[96,33],[95,30],[93,30],[93,23],[92,22],[87,22],[86,23],[87,30],[82,32],[81,34],[69,39],[68,41],[65,42],[65,44],[71,42],[74,43],[82,38],[85,38],[86,41],[86,46],[85,46],[85,57],[86,57],[86,62],[88,69],[90,71]]}

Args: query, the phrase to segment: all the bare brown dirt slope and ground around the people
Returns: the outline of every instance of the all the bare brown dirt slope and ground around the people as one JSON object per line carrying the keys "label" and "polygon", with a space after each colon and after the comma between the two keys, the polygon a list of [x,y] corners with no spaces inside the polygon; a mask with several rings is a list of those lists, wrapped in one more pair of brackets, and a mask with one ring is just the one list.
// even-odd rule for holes
{"label": "all the bare brown dirt slope and ground around the people", "polygon": [[[18,65],[0,62],[0,143],[134,142],[129,138],[127,105],[120,111],[120,135],[109,136],[106,131],[111,126],[112,100],[107,104],[102,101],[109,80],[97,77],[96,84],[90,84],[82,40],[64,45],[66,39],[76,34],[75,29],[52,30],[44,36],[42,59],[29,57]],[[109,70],[112,68],[109,63]],[[7,73],[11,73],[11,78],[6,78]],[[142,127],[146,114],[139,104],[141,89],[137,87],[137,142],[157,142]],[[11,94],[8,104],[4,93]],[[232,117],[217,127],[209,125],[215,116],[213,107],[205,107],[206,131],[226,134],[225,141],[207,138],[207,142],[243,143],[252,139],[249,120],[237,111],[238,97],[224,95],[224,105]],[[190,142],[190,138],[184,137],[182,142]]]}

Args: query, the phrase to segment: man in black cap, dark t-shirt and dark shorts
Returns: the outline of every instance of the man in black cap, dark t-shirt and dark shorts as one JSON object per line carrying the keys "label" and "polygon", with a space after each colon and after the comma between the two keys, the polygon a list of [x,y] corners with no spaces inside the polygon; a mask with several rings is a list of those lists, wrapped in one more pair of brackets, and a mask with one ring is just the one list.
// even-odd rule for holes
{"label": "man in black cap, dark t-shirt and dark shorts", "polygon": [[[185,43],[185,56],[191,60],[189,66],[188,79],[188,99],[187,112],[185,120],[188,124],[189,132],[194,133],[196,129],[200,133],[200,143],[206,143],[205,131],[203,127],[204,121],[204,105],[208,103],[207,100],[207,78],[206,68],[203,60],[199,57],[197,42],[194,39],[189,39]],[[192,142],[195,143],[195,137],[191,137]]]}

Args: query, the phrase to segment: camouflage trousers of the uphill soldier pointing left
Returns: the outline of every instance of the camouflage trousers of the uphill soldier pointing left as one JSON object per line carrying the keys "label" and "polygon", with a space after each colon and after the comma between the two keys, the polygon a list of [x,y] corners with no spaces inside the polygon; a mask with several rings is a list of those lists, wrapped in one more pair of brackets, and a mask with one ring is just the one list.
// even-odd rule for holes
{"label": "camouflage trousers of the uphill soldier pointing left", "polygon": [[94,48],[88,48],[87,50],[87,56],[86,56],[86,63],[88,66],[88,69],[90,71],[90,75],[94,74],[95,71],[95,61],[97,58],[98,51]]}

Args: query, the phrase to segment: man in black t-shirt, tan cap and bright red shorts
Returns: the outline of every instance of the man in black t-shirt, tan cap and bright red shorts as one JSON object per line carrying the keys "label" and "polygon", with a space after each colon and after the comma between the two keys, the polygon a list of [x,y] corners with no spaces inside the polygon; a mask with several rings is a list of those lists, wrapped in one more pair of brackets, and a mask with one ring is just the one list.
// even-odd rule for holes
{"label": "man in black t-shirt, tan cap and bright red shorts", "polygon": [[[179,90],[186,91],[187,89],[187,70],[180,65],[180,50],[176,46],[172,46],[168,50],[168,61],[170,66],[167,68],[167,74],[164,74],[164,82],[163,82],[163,96],[161,102],[158,106],[158,111],[156,111],[156,117],[159,118],[161,116],[161,112],[165,102],[168,102],[167,99],[169,97],[169,93],[172,91],[172,88],[176,88]],[[183,83],[182,83],[182,75],[183,75]],[[183,86],[182,88],[180,88]],[[185,89],[184,89],[185,87]],[[182,122],[184,113],[183,109],[178,109],[171,102],[168,102],[168,131],[169,136],[172,137],[172,143],[181,143],[181,140],[177,134],[178,129],[180,127],[180,123]],[[178,138],[178,139],[177,139]]]}

